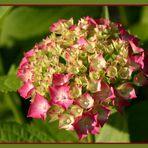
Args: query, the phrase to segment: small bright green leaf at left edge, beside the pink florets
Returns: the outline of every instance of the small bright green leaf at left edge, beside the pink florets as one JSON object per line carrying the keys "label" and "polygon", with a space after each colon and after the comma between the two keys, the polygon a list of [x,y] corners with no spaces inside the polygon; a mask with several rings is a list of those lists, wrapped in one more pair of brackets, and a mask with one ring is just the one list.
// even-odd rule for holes
{"label": "small bright green leaf at left edge, beside the pink florets", "polygon": [[0,76],[0,92],[16,92],[21,86],[21,80],[16,75]]}

